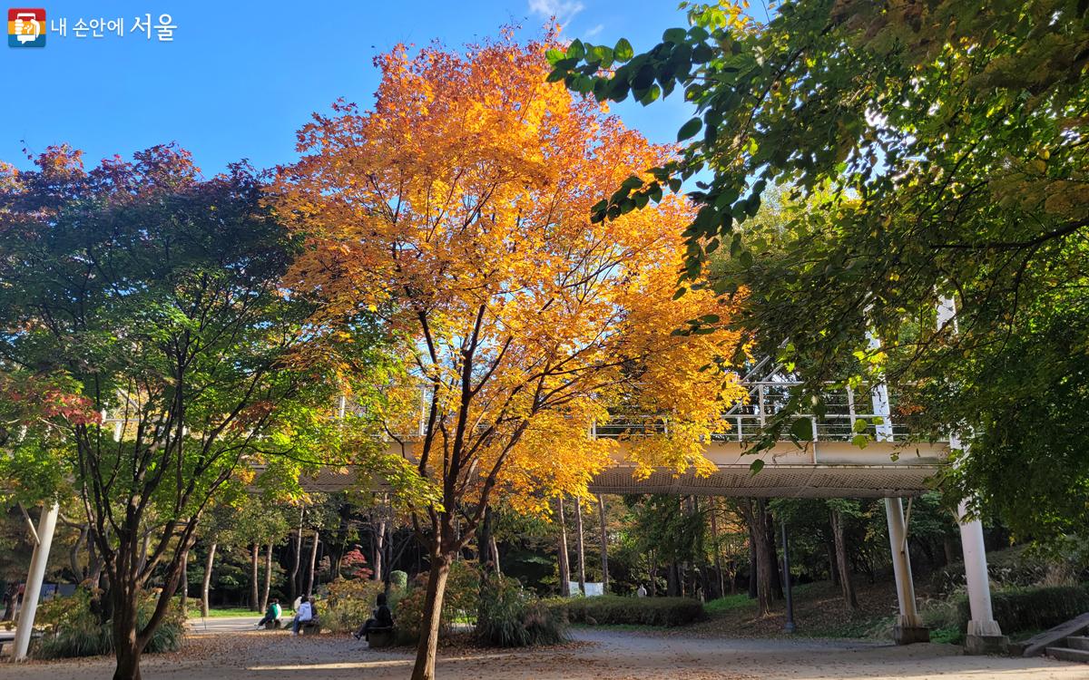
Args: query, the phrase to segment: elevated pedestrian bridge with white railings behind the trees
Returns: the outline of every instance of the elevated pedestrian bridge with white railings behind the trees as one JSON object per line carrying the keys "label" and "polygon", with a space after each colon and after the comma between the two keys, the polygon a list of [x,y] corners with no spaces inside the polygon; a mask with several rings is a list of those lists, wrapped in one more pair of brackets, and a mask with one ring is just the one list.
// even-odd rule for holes
{"label": "elevated pedestrian bridge with white railings behind the trees", "polygon": [[[918,495],[933,487],[933,478],[949,457],[944,442],[910,442],[909,429],[892,417],[883,385],[872,390],[831,390],[824,394],[827,412],[799,413],[794,420],[809,423],[810,436],[784,440],[754,453],[752,442],[770,418],[783,408],[788,392],[799,385],[790,380],[748,381],[748,396],[723,413],[722,432],[705,443],[703,455],[715,471],[698,475],[671,469],[635,477],[627,448],[633,440],[668,431],[661,416],[616,416],[596,424],[591,435],[616,440],[614,462],[589,484],[596,494],[681,494],[741,497],[881,498]],[[856,407],[856,404],[858,405]],[[879,419],[880,424],[873,424]],[[390,452],[415,460],[413,449],[420,431],[390,442]],[[865,446],[854,440],[868,435]],[[755,460],[762,461],[759,472]],[[308,478],[310,491],[334,492],[351,486],[351,471],[328,470]]]}

